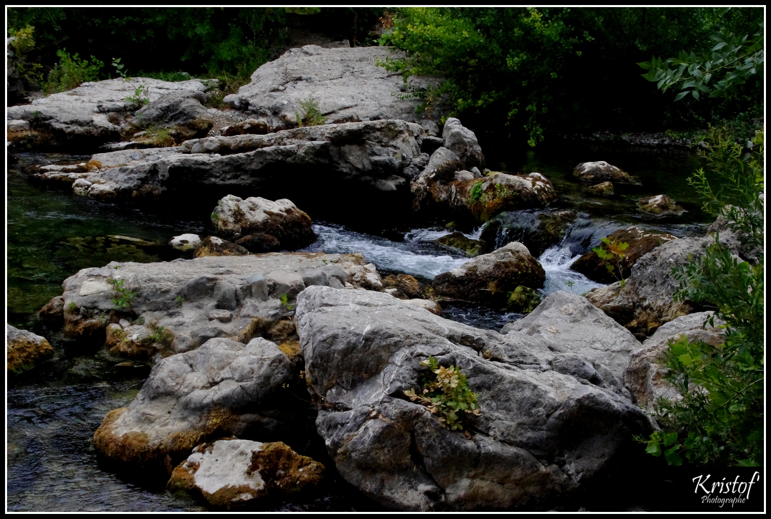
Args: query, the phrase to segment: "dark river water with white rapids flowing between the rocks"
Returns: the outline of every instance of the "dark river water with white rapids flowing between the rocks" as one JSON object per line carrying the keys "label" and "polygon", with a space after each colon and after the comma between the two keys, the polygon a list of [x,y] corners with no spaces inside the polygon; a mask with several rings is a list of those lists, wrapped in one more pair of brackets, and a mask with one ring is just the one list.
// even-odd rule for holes
{"label": "dark river water with white rapids flowing between the rocks", "polygon": [[[557,290],[581,294],[598,285],[570,270],[578,255],[589,251],[610,232],[640,225],[678,237],[705,233],[709,217],[687,177],[700,167],[698,157],[685,153],[645,150],[561,147],[520,155],[488,156],[493,169],[513,173],[539,171],[554,184],[559,200],[552,207],[579,213],[563,241],[554,244],[539,261],[546,271],[544,295]],[[199,511],[200,503],[165,494],[111,474],[97,463],[91,438],[109,409],[126,406],[140,389],[147,369],[116,372],[114,361],[91,346],[67,341],[45,329],[35,312],[62,292],[65,278],[79,269],[109,261],[168,261],[178,254],[166,245],[176,234],[211,231],[210,207],[163,207],[150,211],[126,204],[106,204],[62,190],[32,184],[22,173],[29,163],[79,162],[85,157],[29,153],[8,168],[7,318],[19,328],[45,335],[56,356],[42,366],[8,381],[7,491],[12,511]],[[610,199],[588,197],[571,176],[576,163],[607,160],[641,179],[641,186],[617,186]],[[635,210],[644,195],[666,193],[688,211],[668,220],[646,220]],[[239,194],[255,196],[259,194]],[[283,194],[292,198],[291,194]],[[214,201],[212,201],[213,205]],[[345,221],[325,221],[325,207],[298,204],[317,217],[318,241],[306,250],[360,252],[382,273],[406,273],[428,282],[435,275],[460,267],[468,258],[436,244],[449,234],[446,222],[416,222],[403,217],[384,228],[361,215]],[[396,221],[396,219],[395,219]],[[434,226],[436,224],[436,226]],[[463,229],[480,238],[483,227]],[[476,305],[443,304],[446,318],[480,328],[500,329],[522,316],[503,309]],[[308,455],[323,457],[323,444],[309,440]],[[296,449],[301,450],[301,449]],[[304,453],[305,453],[304,452]],[[274,504],[271,510],[376,510],[339,476],[334,489],[303,503]]]}

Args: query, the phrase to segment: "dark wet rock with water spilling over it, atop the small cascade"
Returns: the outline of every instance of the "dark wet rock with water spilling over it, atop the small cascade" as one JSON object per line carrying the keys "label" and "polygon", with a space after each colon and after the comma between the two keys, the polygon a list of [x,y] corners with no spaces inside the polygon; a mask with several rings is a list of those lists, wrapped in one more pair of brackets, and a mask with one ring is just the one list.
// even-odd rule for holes
{"label": "dark wet rock with water spilling over it, atop the small cascade", "polygon": [[534,257],[539,258],[547,248],[565,238],[576,219],[575,211],[506,211],[488,222],[481,239],[494,247],[519,241]]}

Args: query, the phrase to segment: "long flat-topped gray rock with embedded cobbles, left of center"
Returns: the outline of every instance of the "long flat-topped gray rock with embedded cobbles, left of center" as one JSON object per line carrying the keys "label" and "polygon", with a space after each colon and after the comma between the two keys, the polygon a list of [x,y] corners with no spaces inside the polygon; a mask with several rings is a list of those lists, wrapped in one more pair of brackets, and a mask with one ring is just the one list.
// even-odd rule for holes
{"label": "long flat-topped gray rock with embedded cobbles, left of center", "polygon": [[[195,349],[213,337],[248,342],[264,336],[281,343],[295,331],[281,295],[293,304],[305,290],[306,279],[315,285],[342,288],[350,283],[372,288],[380,277],[374,266],[356,254],[268,253],[146,264],[113,261],[102,268],[83,269],[64,281],[65,333],[99,339],[113,322],[117,329],[107,330],[107,341],[115,352],[145,358],[158,351]],[[125,307],[116,308],[113,301],[121,299]],[[213,310],[230,312],[231,318],[210,320]],[[134,317],[143,324],[130,324]],[[161,327],[162,334],[157,332]],[[156,339],[148,341],[150,335]]]}

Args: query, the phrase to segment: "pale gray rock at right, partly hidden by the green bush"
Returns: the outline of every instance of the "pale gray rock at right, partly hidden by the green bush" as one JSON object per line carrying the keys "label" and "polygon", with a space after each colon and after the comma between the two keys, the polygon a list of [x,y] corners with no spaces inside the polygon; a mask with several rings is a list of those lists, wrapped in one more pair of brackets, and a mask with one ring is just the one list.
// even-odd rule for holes
{"label": "pale gray rock at right, partly hidden by the green bush", "polygon": [[712,312],[696,312],[672,319],[631,353],[625,382],[638,406],[652,411],[653,404],[659,398],[682,399],[675,386],[664,379],[668,369],[661,362],[661,356],[668,348],[668,341],[675,341],[680,335],[688,337],[689,342],[704,341],[713,346],[721,345],[725,340],[725,332],[719,326],[725,323],[715,319],[715,326],[708,323],[703,327],[710,315]]}

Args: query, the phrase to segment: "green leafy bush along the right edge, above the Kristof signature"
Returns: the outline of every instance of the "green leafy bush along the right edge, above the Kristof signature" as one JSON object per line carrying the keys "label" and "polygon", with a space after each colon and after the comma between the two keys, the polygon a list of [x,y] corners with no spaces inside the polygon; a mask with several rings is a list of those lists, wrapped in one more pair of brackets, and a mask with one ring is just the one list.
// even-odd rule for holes
{"label": "green leafy bush along the right edge, above the Kristof signature", "polygon": [[[692,463],[758,466],[763,464],[763,391],[765,307],[763,275],[763,134],[755,139],[756,153],[746,160],[729,142],[725,130],[712,130],[705,158],[709,175],[726,187],[714,190],[708,174],[699,170],[691,184],[705,197],[705,209],[726,217],[743,247],[757,256],[751,265],[732,255],[719,236],[705,253],[685,267],[675,268],[679,282],[675,298],[714,305],[708,319],[726,322],[719,346],[689,342],[685,336],[669,343],[663,362],[681,400],[660,399],[655,412],[663,433],[648,440],[647,452],[661,454],[678,465]],[[706,324],[706,322],[705,322]]]}

